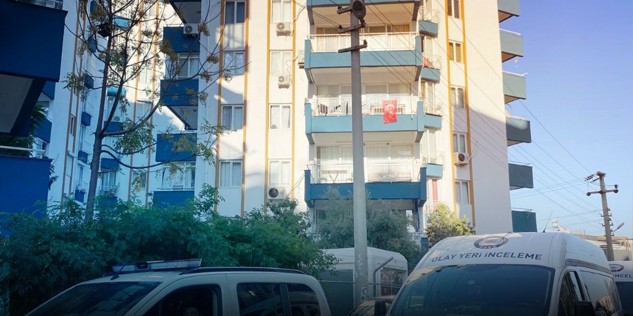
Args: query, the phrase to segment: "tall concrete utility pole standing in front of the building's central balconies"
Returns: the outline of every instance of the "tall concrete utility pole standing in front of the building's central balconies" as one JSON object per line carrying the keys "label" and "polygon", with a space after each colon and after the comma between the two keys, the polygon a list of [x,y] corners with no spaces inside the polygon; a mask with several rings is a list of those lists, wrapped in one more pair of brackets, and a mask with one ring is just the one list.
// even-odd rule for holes
{"label": "tall concrete utility pole standing in front of the building's central balconies", "polygon": [[358,30],[365,27],[365,1],[350,0],[349,7],[339,6],[337,13],[351,12],[350,27],[339,25],[339,33],[351,33],[351,46],[339,49],[339,52],[351,52],[352,84],[352,159],[353,170],[353,207],[354,207],[354,305],[368,298],[369,284],[367,264],[367,209],[365,205],[365,164],[363,163],[363,109],[361,104],[360,45]]}

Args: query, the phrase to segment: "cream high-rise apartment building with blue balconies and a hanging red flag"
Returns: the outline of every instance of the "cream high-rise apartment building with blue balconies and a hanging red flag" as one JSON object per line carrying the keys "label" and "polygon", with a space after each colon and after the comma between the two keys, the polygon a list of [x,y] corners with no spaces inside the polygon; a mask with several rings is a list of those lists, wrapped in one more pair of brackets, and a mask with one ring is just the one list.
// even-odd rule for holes
{"label": "cream high-rise apartment building with blue balconies and a hanging red flag", "polygon": [[[477,233],[511,231],[509,191],[532,187],[531,167],[508,163],[506,149],[530,142],[529,121],[505,109],[526,97],[525,78],[502,71],[504,61],[523,56],[520,34],[499,28],[519,15],[518,0],[365,3],[361,77],[371,197],[398,200],[417,231],[439,203],[467,216]],[[213,96],[205,104],[169,97],[165,104],[187,126],[208,121],[233,131],[216,142],[215,164],[194,162],[194,190],[154,195],[177,202],[209,183],[225,198],[218,211],[226,216],[296,198],[318,226],[327,216],[325,191],[347,195],[353,181],[350,55],[337,52],[349,46],[349,34],[337,32],[349,16],[336,12],[349,1],[171,4],[183,23],[165,32],[182,32],[172,46],[191,47],[183,43],[204,21],[211,33],[199,37],[199,54],[220,47],[215,69],[229,68],[232,78],[181,85]],[[396,121],[384,123],[389,105]],[[178,115],[185,109],[189,115]]]}

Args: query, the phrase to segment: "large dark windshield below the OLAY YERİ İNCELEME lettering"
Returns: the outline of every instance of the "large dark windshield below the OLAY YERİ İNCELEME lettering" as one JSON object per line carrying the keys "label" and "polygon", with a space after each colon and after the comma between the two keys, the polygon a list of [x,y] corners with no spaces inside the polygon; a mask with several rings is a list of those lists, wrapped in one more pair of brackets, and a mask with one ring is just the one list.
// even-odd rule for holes
{"label": "large dark windshield below the OLAY YER\u0130 \u0130NCELEME lettering", "polygon": [[548,315],[554,269],[475,264],[418,269],[400,290],[391,316]]}

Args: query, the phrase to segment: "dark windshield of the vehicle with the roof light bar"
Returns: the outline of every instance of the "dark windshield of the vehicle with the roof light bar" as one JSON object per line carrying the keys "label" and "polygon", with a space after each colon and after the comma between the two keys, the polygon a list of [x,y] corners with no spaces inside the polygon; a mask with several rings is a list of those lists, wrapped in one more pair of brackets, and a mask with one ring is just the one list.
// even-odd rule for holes
{"label": "dark windshield of the vehicle with the roof light bar", "polygon": [[124,315],[160,282],[111,282],[80,284],[28,315]]}

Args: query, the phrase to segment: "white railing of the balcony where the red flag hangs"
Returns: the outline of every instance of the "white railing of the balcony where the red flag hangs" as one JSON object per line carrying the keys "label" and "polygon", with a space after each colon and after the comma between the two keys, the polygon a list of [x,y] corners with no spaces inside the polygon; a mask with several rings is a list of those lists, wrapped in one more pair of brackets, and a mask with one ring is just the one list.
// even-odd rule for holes
{"label": "white railing of the balcony where the red flag hangs", "polygon": [[[397,114],[415,114],[417,112],[417,102],[420,97],[404,96],[404,97],[386,97],[386,96],[370,96],[363,95],[361,104],[363,106],[364,115],[383,114],[383,102],[396,100]],[[313,97],[308,99],[308,103],[312,105],[312,116],[339,116],[351,115],[352,98],[347,96],[340,97]]]}

